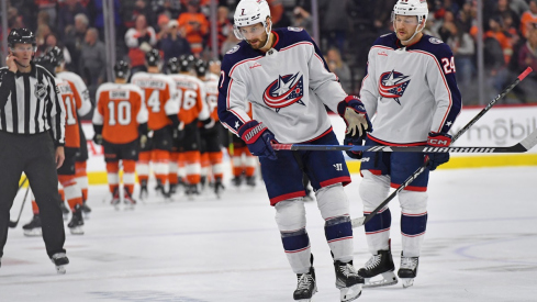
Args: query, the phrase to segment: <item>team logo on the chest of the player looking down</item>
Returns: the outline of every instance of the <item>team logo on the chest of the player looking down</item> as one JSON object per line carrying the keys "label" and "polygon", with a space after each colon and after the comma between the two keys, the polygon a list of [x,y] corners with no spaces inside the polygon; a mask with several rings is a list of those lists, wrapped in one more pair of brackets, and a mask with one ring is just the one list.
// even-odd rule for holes
{"label": "team logo on the chest of the player looking down", "polygon": [[301,101],[304,97],[303,78],[300,71],[294,75],[279,76],[265,89],[262,100],[268,107],[276,109],[276,112],[293,103],[305,105]]}

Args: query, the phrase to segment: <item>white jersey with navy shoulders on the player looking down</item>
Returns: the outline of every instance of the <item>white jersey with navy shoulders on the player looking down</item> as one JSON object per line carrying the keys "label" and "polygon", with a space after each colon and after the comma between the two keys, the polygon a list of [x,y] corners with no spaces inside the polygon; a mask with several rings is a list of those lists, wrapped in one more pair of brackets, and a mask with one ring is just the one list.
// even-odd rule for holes
{"label": "white jersey with navy shoulders on the player looking down", "polygon": [[240,42],[224,56],[219,116],[237,134],[250,118],[262,122],[280,143],[315,139],[331,130],[325,105],[337,112],[347,97],[311,36],[301,29],[276,29],[266,54]]}

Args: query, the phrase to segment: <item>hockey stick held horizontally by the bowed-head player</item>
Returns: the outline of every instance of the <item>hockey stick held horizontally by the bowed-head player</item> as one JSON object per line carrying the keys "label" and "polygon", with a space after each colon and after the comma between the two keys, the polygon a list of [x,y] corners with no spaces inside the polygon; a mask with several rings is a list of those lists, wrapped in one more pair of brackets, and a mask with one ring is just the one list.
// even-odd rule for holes
{"label": "hockey stick held horizontally by the bowed-head player", "polygon": [[354,150],[354,152],[413,152],[413,153],[524,153],[537,145],[537,130],[516,145],[508,147],[396,147],[396,146],[346,146],[273,144],[275,150]]}

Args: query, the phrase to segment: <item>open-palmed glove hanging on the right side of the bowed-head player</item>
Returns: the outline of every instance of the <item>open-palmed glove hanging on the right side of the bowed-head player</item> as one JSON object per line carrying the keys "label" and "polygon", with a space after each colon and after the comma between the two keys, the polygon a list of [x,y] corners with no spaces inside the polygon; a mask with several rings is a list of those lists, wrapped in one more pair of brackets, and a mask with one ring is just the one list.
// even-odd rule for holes
{"label": "open-palmed glove hanging on the right side of the bowed-head player", "polygon": [[366,131],[371,132],[373,127],[366,112],[363,103],[355,96],[348,96],[337,104],[337,113],[345,120],[347,130],[345,134],[353,137],[366,137]]}

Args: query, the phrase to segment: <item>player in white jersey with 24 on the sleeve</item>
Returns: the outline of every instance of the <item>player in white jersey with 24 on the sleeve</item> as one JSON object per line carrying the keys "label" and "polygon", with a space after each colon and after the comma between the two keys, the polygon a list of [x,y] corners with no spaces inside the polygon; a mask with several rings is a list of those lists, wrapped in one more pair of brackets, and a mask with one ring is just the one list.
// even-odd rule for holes
{"label": "player in white jersey with 24 on the sleeve", "polygon": [[[399,0],[393,9],[394,33],[379,37],[369,52],[367,76],[360,98],[367,112],[376,114],[366,145],[448,146],[448,134],[461,109],[455,78],[454,55],[440,40],[422,33],[427,19],[426,0]],[[361,145],[361,139],[346,138]],[[361,154],[348,153],[360,158]],[[429,170],[449,160],[449,154],[363,153],[360,197],[363,213],[371,213],[390,187],[417,170],[428,156],[428,169],[399,193],[402,251],[398,275],[403,287],[413,284],[427,225]],[[398,283],[390,250],[390,209],[384,208],[366,224],[370,260],[358,273],[366,287]]]}

